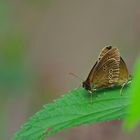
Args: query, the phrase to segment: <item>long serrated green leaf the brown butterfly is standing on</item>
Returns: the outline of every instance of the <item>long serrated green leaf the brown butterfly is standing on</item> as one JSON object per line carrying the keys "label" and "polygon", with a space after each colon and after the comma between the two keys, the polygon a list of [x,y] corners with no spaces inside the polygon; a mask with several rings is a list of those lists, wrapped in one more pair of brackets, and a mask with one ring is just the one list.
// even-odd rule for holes
{"label": "long serrated green leaf the brown butterfly is standing on", "polygon": [[91,97],[83,88],[74,89],[45,105],[22,126],[14,140],[43,140],[66,128],[122,119],[127,115],[128,92],[129,87],[125,87],[121,96],[120,88],[115,88],[98,91]]}

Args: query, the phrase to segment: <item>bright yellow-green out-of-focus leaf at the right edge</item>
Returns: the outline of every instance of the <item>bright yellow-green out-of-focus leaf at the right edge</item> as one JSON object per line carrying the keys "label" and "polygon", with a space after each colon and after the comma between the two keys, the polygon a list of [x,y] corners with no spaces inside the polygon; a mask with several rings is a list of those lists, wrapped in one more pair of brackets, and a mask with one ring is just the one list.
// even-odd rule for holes
{"label": "bright yellow-green out-of-focus leaf at the right edge", "polygon": [[129,131],[133,130],[140,121],[140,59],[135,66],[133,83],[131,86],[130,107],[128,108],[129,115],[125,122],[125,128]]}

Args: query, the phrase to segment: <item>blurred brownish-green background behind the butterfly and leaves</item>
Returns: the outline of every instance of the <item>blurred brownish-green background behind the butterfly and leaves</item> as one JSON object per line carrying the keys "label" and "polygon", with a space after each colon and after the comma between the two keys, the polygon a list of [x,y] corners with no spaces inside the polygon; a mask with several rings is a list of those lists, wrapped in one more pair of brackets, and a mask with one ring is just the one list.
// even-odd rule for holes
{"label": "blurred brownish-green background behind the butterfly and leaves", "polygon": [[[85,79],[100,50],[118,47],[130,73],[140,52],[138,0],[0,0],[0,139]],[[120,120],[48,140],[135,140]]]}

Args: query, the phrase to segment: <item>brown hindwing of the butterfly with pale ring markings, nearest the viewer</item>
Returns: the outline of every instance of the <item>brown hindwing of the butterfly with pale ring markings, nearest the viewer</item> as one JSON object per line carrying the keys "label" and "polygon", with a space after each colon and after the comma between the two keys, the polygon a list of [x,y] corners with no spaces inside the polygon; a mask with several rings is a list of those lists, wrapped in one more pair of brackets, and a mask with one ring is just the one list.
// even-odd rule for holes
{"label": "brown hindwing of the butterfly with pale ring markings, nearest the viewer", "polygon": [[114,86],[119,79],[119,62],[111,58],[102,67],[96,68],[92,77],[92,87],[95,89]]}

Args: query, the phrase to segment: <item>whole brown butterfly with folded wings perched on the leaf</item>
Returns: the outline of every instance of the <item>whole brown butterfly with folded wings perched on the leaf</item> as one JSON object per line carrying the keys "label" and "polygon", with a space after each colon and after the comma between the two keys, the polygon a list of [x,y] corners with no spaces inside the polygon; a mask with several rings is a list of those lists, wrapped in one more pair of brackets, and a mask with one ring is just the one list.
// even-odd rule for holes
{"label": "whole brown butterfly with folded wings perched on the leaf", "polygon": [[102,49],[86,81],[83,82],[83,87],[90,93],[114,86],[123,88],[129,78],[127,66],[118,48],[108,46]]}

